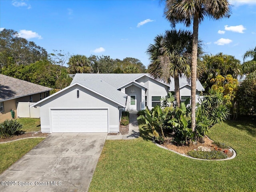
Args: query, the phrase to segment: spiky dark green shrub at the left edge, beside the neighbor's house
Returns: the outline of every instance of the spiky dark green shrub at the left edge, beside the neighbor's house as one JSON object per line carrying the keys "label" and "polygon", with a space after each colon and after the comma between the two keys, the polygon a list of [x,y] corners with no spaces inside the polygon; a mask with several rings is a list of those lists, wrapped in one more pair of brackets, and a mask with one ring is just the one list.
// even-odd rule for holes
{"label": "spiky dark green shrub at the left edge, beside the neighbor's house", "polygon": [[0,137],[11,137],[14,135],[22,134],[22,124],[16,120],[5,120],[0,123]]}

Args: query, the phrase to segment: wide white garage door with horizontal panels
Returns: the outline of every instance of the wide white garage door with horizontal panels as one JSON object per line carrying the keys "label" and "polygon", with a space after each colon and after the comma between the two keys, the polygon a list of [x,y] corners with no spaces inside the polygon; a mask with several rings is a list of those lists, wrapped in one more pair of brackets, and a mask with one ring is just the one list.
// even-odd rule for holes
{"label": "wide white garage door with horizontal panels", "polygon": [[108,132],[107,109],[65,109],[52,111],[52,132]]}

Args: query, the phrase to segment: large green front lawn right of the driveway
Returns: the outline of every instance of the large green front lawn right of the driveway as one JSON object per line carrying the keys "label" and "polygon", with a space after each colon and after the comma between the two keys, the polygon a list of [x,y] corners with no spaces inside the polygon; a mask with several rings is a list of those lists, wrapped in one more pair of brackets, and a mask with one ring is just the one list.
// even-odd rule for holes
{"label": "large green front lawn right of the driveway", "polygon": [[89,191],[256,191],[256,124],[226,122],[210,131],[236,158],[194,160],[143,138],[106,140]]}

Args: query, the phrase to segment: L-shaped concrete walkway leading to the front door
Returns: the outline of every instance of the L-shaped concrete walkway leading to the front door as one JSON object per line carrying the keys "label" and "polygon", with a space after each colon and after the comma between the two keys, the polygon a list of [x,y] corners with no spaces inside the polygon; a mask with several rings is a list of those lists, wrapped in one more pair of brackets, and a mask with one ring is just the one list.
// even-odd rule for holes
{"label": "L-shaped concrete walkway leading to the front door", "polygon": [[140,136],[137,111],[130,111],[129,133],[126,135],[108,135],[106,140],[135,139]]}

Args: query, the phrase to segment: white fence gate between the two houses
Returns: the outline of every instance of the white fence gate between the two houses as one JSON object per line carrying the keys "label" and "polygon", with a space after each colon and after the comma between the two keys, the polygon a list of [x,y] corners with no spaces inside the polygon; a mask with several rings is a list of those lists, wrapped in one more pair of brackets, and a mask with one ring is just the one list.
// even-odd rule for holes
{"label": "white fence gate between the two houses", "polygon": [[40,118],[40,107],[30,106],[35,102],[17,102],[18,118]]}

